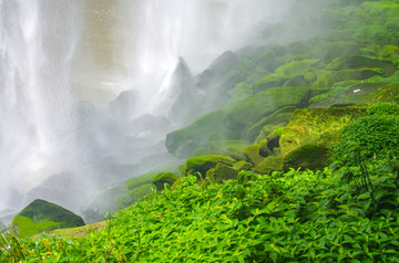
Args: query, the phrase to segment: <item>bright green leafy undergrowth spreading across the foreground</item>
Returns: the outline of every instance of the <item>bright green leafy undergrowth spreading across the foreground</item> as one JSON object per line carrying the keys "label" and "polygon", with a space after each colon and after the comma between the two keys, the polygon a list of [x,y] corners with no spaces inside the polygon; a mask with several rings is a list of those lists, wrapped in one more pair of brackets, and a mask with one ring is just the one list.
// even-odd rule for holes
{"label": "bright green leafy undergrowth spreading across the foreground", "polygon": [[242,171],[223,185],[188,176],[85,238],[3,239],[0,261],[398,262],[399,164],[368,170],[372,192],[328,168]]}

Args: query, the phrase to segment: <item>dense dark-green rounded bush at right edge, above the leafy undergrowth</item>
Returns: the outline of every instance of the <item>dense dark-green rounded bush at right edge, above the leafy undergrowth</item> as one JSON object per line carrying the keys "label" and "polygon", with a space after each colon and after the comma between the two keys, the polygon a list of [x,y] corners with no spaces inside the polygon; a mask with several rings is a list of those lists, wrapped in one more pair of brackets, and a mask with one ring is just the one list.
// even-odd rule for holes
{"label": "dense dark-green rounded bush at right edge, above the leafy undergrowth", "polygon": [[361,117],[344,128],[341,140],[334,147],[336,165],[357,165],[357,156],[366,160],[383,159],[387,155],[399,156],[398,134],[399,116]]}

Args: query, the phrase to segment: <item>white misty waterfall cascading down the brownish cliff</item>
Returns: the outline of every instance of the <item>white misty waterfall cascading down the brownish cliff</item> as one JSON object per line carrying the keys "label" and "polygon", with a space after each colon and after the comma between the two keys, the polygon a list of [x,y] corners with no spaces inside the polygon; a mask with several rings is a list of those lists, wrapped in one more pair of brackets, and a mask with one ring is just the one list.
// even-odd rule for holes
{"label": "white misty waterfall cascading down the brownish cliff", "polygon": [[79,212],[88,196],[117,181],[104,164],[141,162],[154,145],[166,155],[162,139],[176,126],[139,124],[167,117],[178,61],[198,74],[248,42],[259,21],[278,19],[283,6],[0,0],[0,210],[44,197]]}

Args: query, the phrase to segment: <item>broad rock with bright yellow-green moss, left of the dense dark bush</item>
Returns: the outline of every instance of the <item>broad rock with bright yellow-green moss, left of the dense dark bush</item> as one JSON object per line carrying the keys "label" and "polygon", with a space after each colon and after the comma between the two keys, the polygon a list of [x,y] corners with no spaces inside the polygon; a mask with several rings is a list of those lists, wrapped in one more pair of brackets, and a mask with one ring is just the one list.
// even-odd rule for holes
{"label": "broad rock with bright yellow-green moss, left of the dense dark bush", "polygon": [[[294,112],[279,139],[283,157],[296,148],[319,140],[366,114],[366,107],[305,108]],[[327,144],[327,141],[326,141]]]}

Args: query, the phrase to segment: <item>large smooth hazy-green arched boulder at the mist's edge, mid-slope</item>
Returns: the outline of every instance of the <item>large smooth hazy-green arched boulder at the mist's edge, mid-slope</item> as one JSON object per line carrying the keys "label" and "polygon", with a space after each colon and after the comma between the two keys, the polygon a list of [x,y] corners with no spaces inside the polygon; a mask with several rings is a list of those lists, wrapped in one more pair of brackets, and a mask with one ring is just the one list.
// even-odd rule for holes
{"label": "large smooth hazy-green arched boulder at the mist's edge, mid-slope", "polygon": [[308,92],[308,87],[268,88],[235,105],[227,113],[224,125],[232,130],[244,133],[279,108],[304,105],[307,103]]}

